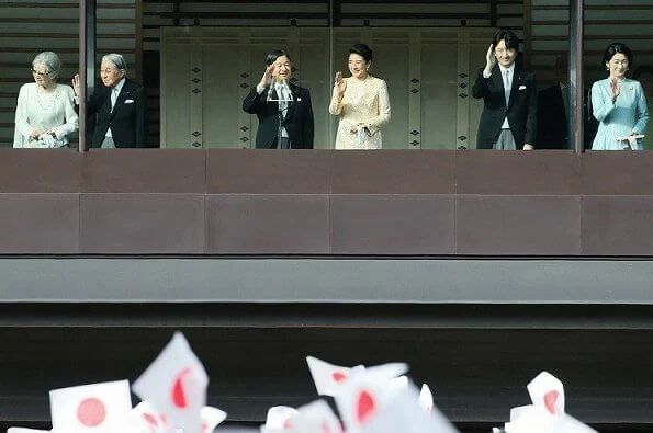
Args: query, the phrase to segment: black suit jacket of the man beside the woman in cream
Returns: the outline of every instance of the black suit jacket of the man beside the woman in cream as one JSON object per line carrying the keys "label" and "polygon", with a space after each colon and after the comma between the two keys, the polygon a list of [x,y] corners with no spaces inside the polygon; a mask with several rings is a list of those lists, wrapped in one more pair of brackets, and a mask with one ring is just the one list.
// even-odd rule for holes
{"label": "black suit jacket of the man beside the woman in cream", "polygon": [[[311,93],[307,89],[294,83],[289,83],[293,101],[289,103],[283,127],[288,130],[293,149],[313,149],[313,107],[311,106]],[[272,91],[273,99],[277,92]],[[270,149],[277,146],[275,139],[279,135],[279,103],[267,101],[268,88],[258,94],[254,87],[245,101],[243,110],[249,114],[256,114],[259,119],[259,128],[256,133],[256,148]]]}

